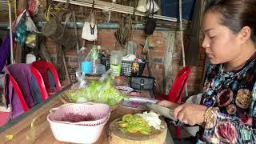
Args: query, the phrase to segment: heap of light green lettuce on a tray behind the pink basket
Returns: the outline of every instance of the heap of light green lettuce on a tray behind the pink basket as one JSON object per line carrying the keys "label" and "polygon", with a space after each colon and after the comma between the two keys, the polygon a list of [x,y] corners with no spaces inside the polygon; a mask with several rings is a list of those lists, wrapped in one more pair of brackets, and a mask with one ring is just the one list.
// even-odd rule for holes
{"label": "heap of light green lettuce on a tray behind the pink basket", "polygon": [[109,105],[111,110],[121,106],[124,98],[127,98],[127,95],[122,94],[110,80],[91,81],[85,88],[65,90],[60,94],[63,103],[104,103]]}

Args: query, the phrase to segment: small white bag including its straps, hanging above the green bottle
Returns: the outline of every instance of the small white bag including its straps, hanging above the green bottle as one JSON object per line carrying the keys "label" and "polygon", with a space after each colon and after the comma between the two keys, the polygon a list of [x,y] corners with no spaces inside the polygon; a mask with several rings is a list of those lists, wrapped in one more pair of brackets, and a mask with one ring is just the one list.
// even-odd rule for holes
{"label": "small white bag including its straps, hanging above the green bottle", "polygon": [[94,10],[92,10],[89,18],[82,27],[82,38],[86,39],[87,41],[96,41],[98,38],[97,22],[94,15]]}

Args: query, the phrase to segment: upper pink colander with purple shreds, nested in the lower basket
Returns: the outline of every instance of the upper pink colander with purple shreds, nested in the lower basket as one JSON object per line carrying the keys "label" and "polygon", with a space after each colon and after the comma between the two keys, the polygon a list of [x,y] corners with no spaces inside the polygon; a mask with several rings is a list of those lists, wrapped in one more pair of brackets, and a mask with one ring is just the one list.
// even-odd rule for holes
{"label": "upper pink colander with purple shreds, nested in the lower basket", "polygon": [[66,103],[50,109],[48,117],[53,122],[94,126],[110,117],[110,106],[102,103]]}

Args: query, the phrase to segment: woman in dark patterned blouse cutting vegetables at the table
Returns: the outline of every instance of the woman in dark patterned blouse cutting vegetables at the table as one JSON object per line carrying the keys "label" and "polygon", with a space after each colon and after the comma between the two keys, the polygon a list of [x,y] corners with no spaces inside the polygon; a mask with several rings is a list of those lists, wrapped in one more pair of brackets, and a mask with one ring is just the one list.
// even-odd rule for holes
{"label": "woman in dark patterned blouse cutting vegetables at the table", "polygon": [[256,1],[217,0],[203,18],[211,65],[200,105],[158,104],[179,121],[201,126],[198,142],[256,143]]}

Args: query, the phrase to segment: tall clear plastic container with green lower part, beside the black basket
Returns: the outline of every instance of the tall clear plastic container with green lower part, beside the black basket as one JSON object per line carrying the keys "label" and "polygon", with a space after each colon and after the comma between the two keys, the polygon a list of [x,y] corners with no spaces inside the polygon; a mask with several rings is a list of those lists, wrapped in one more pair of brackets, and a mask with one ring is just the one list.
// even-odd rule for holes
{"label": "tall clear plastic container with green lower part, beside the black basket", "polygon": [[110,68],[113,70],[112,76],[120,76],[122,64],[122,51],[111,51]]}

